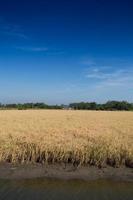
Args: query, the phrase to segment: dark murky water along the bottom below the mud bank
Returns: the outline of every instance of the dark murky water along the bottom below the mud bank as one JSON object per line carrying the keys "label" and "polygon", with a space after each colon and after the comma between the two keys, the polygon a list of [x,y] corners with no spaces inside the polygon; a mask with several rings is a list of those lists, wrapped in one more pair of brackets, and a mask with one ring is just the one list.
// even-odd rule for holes
{"label": "dark murky water along the bottom below the mud bank", "polygon": [[0,200],[133,200],[133,183],[0,180]]}

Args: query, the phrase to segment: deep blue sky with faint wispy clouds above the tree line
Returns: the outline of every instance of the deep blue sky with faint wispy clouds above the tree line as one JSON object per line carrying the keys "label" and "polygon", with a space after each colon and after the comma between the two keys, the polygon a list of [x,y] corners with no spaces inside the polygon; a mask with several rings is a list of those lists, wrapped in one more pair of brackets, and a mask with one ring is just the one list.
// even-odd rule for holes
{"label": "deep blue sky with faint wispy clouds above the tree line", "polygon": [[133,101],[132,0],[1,0],[0,102]]}

